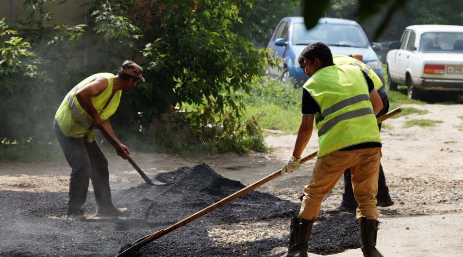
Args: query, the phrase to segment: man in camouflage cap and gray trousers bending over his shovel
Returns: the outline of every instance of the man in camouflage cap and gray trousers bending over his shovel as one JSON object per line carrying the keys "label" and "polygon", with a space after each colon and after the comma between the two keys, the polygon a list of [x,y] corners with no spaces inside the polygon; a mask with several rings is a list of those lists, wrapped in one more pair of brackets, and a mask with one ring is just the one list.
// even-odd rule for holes
{"label": "man in camouflage cap and gray trousers bending over his shovel", "polygon": [[[117,110],[122,90],[130,90],[140,80],[145,82],[142,71],[139,65],[127,60],[116,75],[94,74],[72,88],[56,111],[55,134],[72,169],[66,208],[68,219],[86,219],[81,207],[87,198],[90,179],[97,203],[96,216],[130,215],[127,208],[116,208],[112,203],[108,161],[94,140],[94,129],[102,126],[116,138],[109,118]],[[117,154],[127,159],[129,149],[124,145],[122,148],[125,151]]]}

